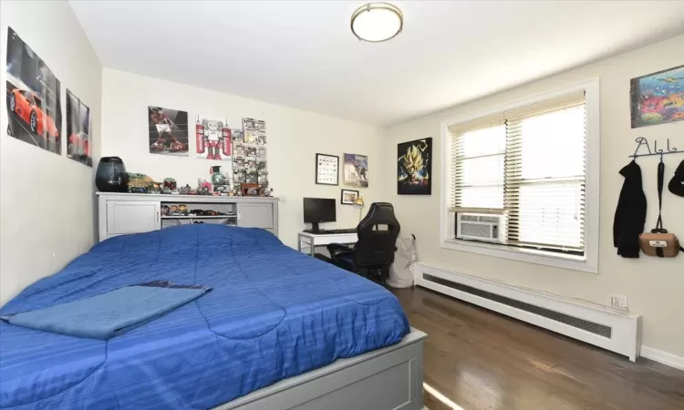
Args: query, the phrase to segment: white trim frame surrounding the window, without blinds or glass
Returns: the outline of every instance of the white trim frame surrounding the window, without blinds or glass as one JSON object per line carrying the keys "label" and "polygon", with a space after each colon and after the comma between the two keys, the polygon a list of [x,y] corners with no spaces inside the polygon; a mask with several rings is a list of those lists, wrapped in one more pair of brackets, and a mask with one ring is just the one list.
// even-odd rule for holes
{"label": "white trim frame surrounding the window, without blinds or glass", "polygon": [[[579,91],[586,92],[586,245],[584,260],[578,260],[576,257],[568,257],[562,254],[553,254],[551,252],[529,251],[495,244],[453,240],[453,236],[451,235],[453,218],[447,207],[448,188],[446,186],[449,168],[449,127]],[[455,251],[479,253],[514,261],[525,261],[539,265],[554,266],[573,271],[598,273],[600,126],[598,77],[568,87],[557,88],[543,94],[538,94],[534,97],[519,99],[502,106],[482,110],[467,116],[441,121],[440,247]]]}

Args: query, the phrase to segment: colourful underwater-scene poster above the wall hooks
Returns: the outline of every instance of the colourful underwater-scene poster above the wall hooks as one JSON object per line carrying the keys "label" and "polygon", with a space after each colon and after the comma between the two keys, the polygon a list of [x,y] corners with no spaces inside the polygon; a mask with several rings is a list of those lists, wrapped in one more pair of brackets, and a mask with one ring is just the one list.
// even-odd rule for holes
{"label": "colourful underwater-scene poster above the wall hooks", "polygon": [[684,119],[684,66],[631,80],[632,128]]}

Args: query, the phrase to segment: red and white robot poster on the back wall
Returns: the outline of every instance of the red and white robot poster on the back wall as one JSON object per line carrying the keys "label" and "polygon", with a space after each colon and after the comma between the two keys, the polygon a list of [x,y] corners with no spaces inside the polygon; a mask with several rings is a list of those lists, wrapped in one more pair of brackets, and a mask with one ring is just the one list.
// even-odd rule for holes
{"label": "red and white robot poster on the back wall", "polygon": [[[233,162],[233,132],[227,119],[198,115],[195,120],[195,138],[197,158]],[[230,166],[229,170],[233,172],[233,167]]]}

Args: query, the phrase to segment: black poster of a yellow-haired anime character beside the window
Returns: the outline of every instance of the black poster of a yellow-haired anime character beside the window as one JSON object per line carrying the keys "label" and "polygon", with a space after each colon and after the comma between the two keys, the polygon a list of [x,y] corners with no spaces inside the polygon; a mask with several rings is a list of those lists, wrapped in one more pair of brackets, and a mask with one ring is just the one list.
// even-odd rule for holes
{"label": "black poster of a yellow-haired anime character beside the window", "polygon": [[432,185],[432,138],[397,145],[397,193],[430,195]]}

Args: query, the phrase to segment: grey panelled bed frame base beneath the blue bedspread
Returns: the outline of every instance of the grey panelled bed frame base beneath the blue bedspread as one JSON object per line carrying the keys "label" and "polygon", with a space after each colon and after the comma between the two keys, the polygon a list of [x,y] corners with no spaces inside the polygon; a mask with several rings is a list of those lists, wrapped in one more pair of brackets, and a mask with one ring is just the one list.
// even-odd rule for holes
{"label": "grey panelled bed frame base beneath the blue bedspread", "polygon": [[281,380],[213,410],[421,410],[423,340],[401,342]]}

